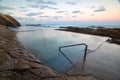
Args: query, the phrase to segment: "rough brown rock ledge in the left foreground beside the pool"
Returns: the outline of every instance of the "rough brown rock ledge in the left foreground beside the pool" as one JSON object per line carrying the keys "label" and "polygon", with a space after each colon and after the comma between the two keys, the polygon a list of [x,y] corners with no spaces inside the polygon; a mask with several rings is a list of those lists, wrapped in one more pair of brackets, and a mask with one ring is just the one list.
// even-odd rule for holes
{"label": "rough brown rock ledge in the left foreground beside the pool", "polygon": [[16,32],[0,25],[0,80],[98,80],[67,76],[45,66],[18,42]]}

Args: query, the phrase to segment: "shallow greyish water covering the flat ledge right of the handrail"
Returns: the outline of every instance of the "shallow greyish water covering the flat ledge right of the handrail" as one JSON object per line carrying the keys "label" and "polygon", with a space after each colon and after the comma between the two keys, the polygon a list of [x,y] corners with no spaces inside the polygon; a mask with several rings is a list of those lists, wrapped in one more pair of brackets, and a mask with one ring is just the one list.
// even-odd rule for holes
{"label": "shallow greyish water covering the flat ledge right of the handrail", "polygon": [[95,52],[87,55],[85,63],[77,62],[74,67],[67,71],[67,74],[92,75],[102,80],[119,80],[119,50],[119,45],[104,43]]}

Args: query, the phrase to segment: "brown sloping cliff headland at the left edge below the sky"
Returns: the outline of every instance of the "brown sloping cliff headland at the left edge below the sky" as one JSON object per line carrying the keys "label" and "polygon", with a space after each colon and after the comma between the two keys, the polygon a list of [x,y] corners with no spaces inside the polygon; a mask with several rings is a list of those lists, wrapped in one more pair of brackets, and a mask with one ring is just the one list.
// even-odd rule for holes
{"label": "brown sloping cliff headland at the left edge below the sky", "polygon": [[15,20],[12,16],[0,13],[0,24],[8,27],[20,26],[20,23]]}

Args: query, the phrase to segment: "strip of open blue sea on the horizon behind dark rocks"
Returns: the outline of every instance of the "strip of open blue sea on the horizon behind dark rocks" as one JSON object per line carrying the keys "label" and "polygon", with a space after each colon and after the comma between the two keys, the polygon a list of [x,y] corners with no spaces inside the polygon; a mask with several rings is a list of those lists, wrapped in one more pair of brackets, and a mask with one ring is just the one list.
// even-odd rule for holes
{"label": "strip of open blue sea on the horizon behind dark rocks", "polygon": [[102,26],[106,28],[120,28],[120,22],[41,22],[42,26],[59,28],[59,27],[90,27],[90,26]]}

